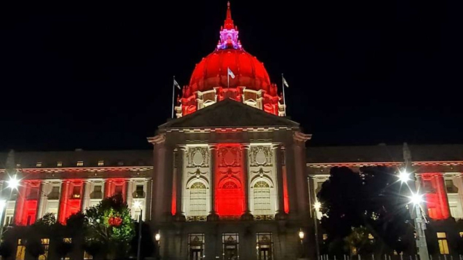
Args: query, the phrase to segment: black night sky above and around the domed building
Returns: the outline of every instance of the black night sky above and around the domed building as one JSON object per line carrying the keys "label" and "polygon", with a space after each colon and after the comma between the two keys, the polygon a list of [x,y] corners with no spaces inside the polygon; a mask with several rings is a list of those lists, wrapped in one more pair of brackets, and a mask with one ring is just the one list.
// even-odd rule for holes
{"label": "black night sky above and around the domed building", "polygon": [[[0,150],[150,148],[226,1],[61,2],[1,3]],[[309,145],[463,143],[462,1],[231,6]]]}

